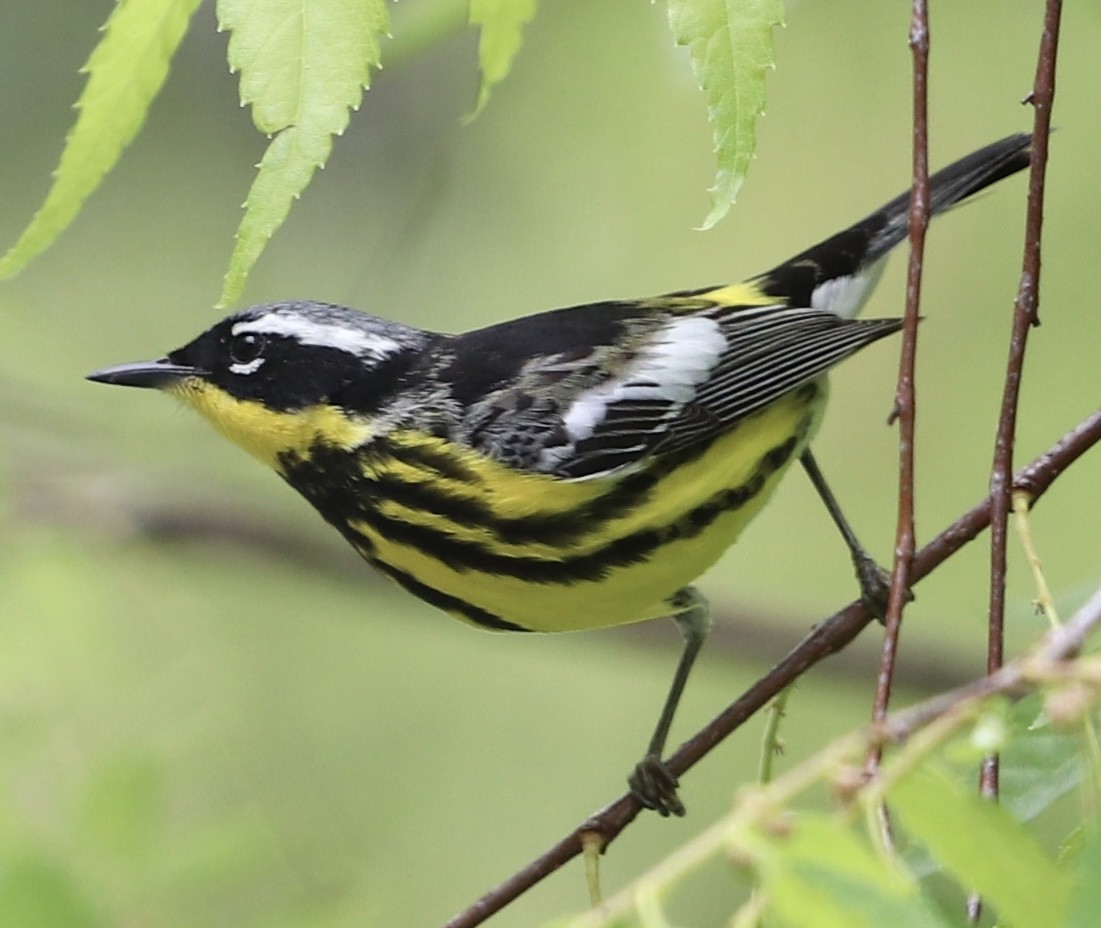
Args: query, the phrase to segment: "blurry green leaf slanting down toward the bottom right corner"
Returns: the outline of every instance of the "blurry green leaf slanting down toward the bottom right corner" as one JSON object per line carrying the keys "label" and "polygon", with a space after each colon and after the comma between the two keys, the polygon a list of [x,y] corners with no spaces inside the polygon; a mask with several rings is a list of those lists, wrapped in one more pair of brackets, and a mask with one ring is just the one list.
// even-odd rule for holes
{"label": "blurry green leaf slanting down toward the bottom right corner", "polygon": [[1000,806],[933,767],[903,777],[889,801],[964,889],[978,892],[1015,925],[1061,925],[1070,881],[1032,833]]}

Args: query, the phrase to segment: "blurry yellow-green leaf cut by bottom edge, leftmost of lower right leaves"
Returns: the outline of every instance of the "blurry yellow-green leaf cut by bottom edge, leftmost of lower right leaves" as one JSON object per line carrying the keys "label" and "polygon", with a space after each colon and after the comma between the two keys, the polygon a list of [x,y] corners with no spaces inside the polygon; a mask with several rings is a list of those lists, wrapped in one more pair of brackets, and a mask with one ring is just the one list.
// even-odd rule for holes
{"label": "blurry yellow-green leaf cut by bottom edge, leftmost of lower right leaves", "polygon": [[944,928],[917,884],[838,820],[800,815],[762,866],[768,905],[800,928]]}

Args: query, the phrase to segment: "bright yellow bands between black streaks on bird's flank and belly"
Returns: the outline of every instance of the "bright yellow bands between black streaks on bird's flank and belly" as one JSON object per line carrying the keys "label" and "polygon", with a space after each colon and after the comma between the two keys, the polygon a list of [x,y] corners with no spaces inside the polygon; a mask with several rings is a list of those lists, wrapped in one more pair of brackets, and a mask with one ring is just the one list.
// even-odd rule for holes
{"label": "bright yellow bands between black streaks on bird's flank and belly", "polygon": [[[799,436],[798,444],[787,465],[797,460],[814,436],[825,408],[825,379],[817,385],[818,395],[810,404],[798,394],[788,394],[743,421],[719,437],[705,454],[666,474],[644,504],[599,523],[593,532],[582,535],[568,548],[552,542],[503,541],[492,528],[459,525],[450,517],[396,502],[385,503],[383,512],[392,518],[424,525],[460,541],[481,543],[494,555],[552,561],[585,555],[636,532],[663,528],[717,494],[741,487],[752,479],[770,451],[795,435]],[[413,434],[403,435],[402,440],[422,446],[438,441]],[[454,479],[445,478],[436,485],[447,492],[480,499],[499,518],[584,509],[588,501],[606,494],[622,479],[563,480],[517,471],[472,450],[460,452],[454,445],[449,450],[477,476],[479,484],[473,493],[471,483]],[[562,632],[620,625],[669,614],[665,600],[718,560],[768,501],[787,465],[768,474],[752,499],[723,512],[698,534],[687,534],[663,544],[640,563],[610,567],[597,579],[541,583],[522,577],[455,568],[415,547],[386,538],[364,522],[353,522],[352,527],[371,542],[374,555],[386,564],[443,593],[525,629]],[[400,469],[391,470],[395,466]],[[379,467],[384,472],[412,479],[404,470],[406,465],[390,461]],[[370,472],[371,467],[364,470]],[[418,479],[424,479],[423,471]]]}

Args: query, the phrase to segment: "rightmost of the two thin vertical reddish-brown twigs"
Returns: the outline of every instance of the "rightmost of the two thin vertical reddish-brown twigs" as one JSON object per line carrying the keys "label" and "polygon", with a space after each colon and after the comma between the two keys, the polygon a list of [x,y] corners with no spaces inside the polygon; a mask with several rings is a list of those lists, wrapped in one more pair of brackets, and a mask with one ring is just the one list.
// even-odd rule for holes
{"label": "rightmost of the two thin vertical reddish-brown twigs", "polygon": [[[1047,0],[1044,29],[1036,61],[1036,78],[1025,98],[1033,114],[1032,164],[1028,171],[1028,208],[1025,220],[1024,258],[1021,281],[1013,306],[1013,328],[1010,335],[1010,357],[1005,369],[1002,407],[994,438],[994,458],[990,471],[990,612],[986,626],[986,673],[993,674],[1005,660],[1005,575],[1009,546],[1009,518],[1013,507],[1013,446],[1016,441],[1017,406],[1024,371],[1028,332],[1039,325],[1040,236],[1044,226],[1044,179],[1047,170],[1047,148],[1051,134],[1051,105],[1055,101],[1055,65],[1059,45],[1061,0]],[[984,757],[979,769],[979,791],[996,799],[999,791],[999,758]],[[968,919],[979,920],[980,900],[968,899]]]}

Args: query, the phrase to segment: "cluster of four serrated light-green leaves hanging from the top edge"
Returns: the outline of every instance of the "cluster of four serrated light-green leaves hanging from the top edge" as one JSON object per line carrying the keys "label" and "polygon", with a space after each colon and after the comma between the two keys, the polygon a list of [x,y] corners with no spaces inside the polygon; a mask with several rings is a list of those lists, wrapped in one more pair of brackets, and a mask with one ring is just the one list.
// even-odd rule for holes
{"label": "cluster of four serrated light-green leaves hanging from the top edge", "polygon": [[[54,183],[0,258],[0,277],[18,273],[56,240],[133,141],[198,2],[119,0],[84,67],[88,83]],[[469,0],[481,70],[471,118],[508,76],[535,12],[535,0]],[[347,129],[370,86],[371,68],[382,66],[390,17],[386,0],[218,0],[217,13],[219,28],[230,33],[229,67],[240,75],[241,103],[270,140],[229,259],[219,301],[228,305],[241,297],[265,245],[328,161],[333,137]],[[782,0],[668,0],[668,14],[707,96],[718,157],[704,222],[709,227],[730,208],[749,171]]]}

